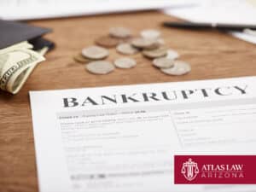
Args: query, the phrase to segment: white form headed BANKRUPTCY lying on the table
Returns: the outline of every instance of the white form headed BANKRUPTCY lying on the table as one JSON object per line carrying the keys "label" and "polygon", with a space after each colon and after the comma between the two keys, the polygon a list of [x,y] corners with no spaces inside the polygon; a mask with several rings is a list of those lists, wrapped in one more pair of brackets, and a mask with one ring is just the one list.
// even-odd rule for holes
{"label": "white form headed BANKRUPTCY lying on the table", "polygon": [[256,77],[30,92],[41,192],[240,192],[176,185],[177,154],[256,154]]}

